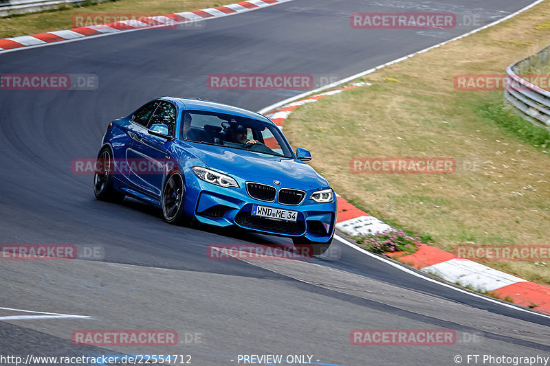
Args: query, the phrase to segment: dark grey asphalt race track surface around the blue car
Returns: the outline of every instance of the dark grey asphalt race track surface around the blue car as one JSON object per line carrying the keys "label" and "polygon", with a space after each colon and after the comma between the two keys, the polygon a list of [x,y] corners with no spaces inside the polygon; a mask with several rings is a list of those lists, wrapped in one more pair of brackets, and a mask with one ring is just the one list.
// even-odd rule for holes
{"label": "dark grey asphalt race track surface around the blue car", "polygon": [[[529,3],[294,0],[208,20],[200,29],[142,30],[0,54],[0,73],[95,73],[99,80],[92,91],[0,91],[0,242],[104,250],[95,261],[0,262],[0,354],[190,354],[198,366],[237,365],[239,354],[309,354],[316,365],[345,366],[456,365],[456,355],[466,365],[467,354],[550,356],[549,317],[408,275],[338,240],[331,255],[309,261],[209,260],[210,244],[291,241],[173,227],[137,201],[96,201],[93,176],[71,170],[73,159],[96,157],[111,120],[158,96],[259,110],[303,92],[211,90],[209,74],[338,80]],[[481,24],[423,31],[349,25],[353,12],[419,10],[456,12],[459,19],[477,14]],[[5,319],[28,314],[8,308],[90,318]],[[349,341],[354,329],[434,328],[455,330],[456,343]],[[176,330],[179,345],[72,345],[74,330],[94,329]]]}

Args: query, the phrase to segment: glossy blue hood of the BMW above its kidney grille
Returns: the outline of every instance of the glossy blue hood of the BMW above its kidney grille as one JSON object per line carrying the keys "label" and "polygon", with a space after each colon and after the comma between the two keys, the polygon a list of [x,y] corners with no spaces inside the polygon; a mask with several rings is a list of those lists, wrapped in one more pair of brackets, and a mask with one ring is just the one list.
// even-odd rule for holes
{"label": "glossy blue hood of the BMW above its kidney grille", "polygon": [[201,159],[208,168],[219,170],[245,181],[273,184],[281,182],[281,187],[299,188],[307,185],[312,188],[328,187],[329,183],[313,168],[294,159],[199,143],[187,143],[189,152]]}

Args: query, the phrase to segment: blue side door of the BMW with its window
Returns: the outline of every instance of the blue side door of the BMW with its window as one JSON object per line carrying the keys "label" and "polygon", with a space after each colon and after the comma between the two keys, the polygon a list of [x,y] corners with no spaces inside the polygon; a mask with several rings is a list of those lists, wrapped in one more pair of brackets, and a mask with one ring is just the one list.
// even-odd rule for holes
{"label": "blue side door of the BMW with its window", "polygon": [[160,101],[146,127],[136,131],[131,147],[131,155],[135,158],[130,165],[129,179],[145,194],[160,198],[166,163],[170,159],[172,141],[151,135],[148,128],[153,124],[168,126],[168,135],[174,136],[176,124],[176,107],[166,101]]}

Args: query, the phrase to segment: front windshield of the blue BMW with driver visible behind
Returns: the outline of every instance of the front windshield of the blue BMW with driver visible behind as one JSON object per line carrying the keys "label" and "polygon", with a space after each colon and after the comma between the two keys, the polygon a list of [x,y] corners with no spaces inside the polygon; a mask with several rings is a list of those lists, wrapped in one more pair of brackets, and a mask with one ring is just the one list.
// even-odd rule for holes
{"label": "front windshield of the blue BMW with driver visible behind", "polygon": [[184,111],[179,139],[292,158],[278,127],[259,119],[225,113]]}

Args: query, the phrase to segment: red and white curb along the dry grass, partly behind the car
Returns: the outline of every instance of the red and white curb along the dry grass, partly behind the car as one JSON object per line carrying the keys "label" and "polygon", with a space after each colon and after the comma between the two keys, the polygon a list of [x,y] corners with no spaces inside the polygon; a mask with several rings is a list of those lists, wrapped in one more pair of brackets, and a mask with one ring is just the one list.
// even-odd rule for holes
{"label": "red and white curb along the dry grass, partly behind the car", "polygon": [[[312,95],[308,98],[284,104],[275,111],[266,114],[281,130],[285,120],[292,112],[304,104],[317,102],[320,98],[329,95],[342,93],[347,89],[353,89],[371,85],[369,83],[356,83],[341,89]],[[338,216],[336,228],[347,233],[349,236],[363,236],[371,233],[380,233],[393,229],[381,220],[358,209],[338,194]],[[459,258],[457,255],[421,245],[416,253],[404,255],[405,253],[391,253],[391,257],[399,256],[399,261],[410,264],[415,268],[437,275],[448,282],[461,286],[471,286],[480,292],[490,292],[504,299],[508,297],[515,304],[529,306],[550,314],[550,287],[527,282],[525,279],[509,275],[496,269],[484,266],[472,260]]]}

